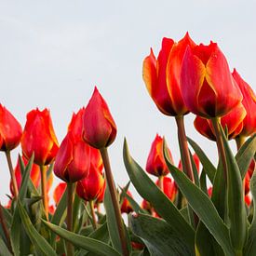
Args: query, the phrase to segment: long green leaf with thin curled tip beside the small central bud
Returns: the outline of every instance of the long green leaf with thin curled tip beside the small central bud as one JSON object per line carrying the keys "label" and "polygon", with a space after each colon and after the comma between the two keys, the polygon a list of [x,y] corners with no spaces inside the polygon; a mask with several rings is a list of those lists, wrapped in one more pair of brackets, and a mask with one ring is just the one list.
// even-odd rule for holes
{"label": "long green leaf with thin curled tip beside the small central bud", "polygon": [[222,218],[210,201],[209,196],[191,182],[180,169],[170,163],[166,141],[164,142],[164,156],[173,179],[186,197],[189,205],[194,209],[201,222],[209,229],[212,236],[222,246],[224,252],[227,255],[233,255],[234,251],[230,244],[227,226],[222,222]]}

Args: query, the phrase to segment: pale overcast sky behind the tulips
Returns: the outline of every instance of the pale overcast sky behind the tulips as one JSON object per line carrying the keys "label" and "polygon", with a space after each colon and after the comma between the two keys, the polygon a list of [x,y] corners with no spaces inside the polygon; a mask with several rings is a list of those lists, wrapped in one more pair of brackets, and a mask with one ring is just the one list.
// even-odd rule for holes
{"label": "pale overcast sky behind the tulips", "polygon": [[[255,90],[255,10],[255,1],[242,0],[0,0],[0,102],[22,127],[30,110],[49,108],[61,143],[73,112],[87,105],[97,85],[117,125],[110,155],[115,181],[124,185],[124,136],[142,167],[156,132],[166,136],[176,164],[180,158],[174,119],[156,109],[141,78],[150,47],[157,55],[162,37],[178,41],[187,31],[196,43],[218,42],[230,68]],[[188,135],[216,161],[214,143],[195,132],[193,119],[186,116]],[[6,202],[4,154],[0,161],[0,200]]]}

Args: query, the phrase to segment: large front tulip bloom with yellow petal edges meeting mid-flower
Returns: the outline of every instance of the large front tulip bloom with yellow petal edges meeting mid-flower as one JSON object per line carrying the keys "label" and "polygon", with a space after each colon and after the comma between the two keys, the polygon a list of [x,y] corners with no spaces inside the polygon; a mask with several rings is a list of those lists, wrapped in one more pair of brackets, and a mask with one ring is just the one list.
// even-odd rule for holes
{"label": "large front tulip bloom with yellow petal edges meeting mid-flower", "polygon": [[228,114],[242,101],[242,94],[222,51],[215,43],[187,47],[182,61],[182,97],[195,115]]}

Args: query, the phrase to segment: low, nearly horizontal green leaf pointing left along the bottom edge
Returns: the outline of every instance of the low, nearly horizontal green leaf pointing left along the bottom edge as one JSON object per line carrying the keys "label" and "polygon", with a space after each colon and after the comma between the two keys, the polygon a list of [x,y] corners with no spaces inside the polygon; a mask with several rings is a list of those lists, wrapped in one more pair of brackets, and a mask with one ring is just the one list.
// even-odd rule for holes
{"label": "low, nearly horizontal green leaf pointing left along the bottom edge", "polygon": [[115,249],[110,247],[109,245],[102,243],[101,241],[95,240],[93,238],[79,236],[74,234],[73,232],[67,231],[57,225],[51,224],[50,222],[46,222],[42,220],[47,227],[56,233],[58,236],[61,236],[65,240],[68,240],[74,246],[82,249],[87,249],[88,251],[94,252],[96,255],[102,256],[120,256]]}

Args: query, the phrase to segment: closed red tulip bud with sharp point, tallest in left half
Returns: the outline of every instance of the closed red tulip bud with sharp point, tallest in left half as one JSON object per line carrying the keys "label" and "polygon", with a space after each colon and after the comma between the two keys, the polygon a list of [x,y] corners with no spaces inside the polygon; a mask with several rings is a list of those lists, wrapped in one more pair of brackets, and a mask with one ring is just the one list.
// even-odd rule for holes
{"label": "closed red tulip bud with sharp point, tallest in left half", "polygon": [[116,126],[107,103],[97,88],[84,113],[83,139],[92,147],[101,149],[115,141]]}

